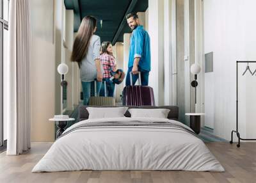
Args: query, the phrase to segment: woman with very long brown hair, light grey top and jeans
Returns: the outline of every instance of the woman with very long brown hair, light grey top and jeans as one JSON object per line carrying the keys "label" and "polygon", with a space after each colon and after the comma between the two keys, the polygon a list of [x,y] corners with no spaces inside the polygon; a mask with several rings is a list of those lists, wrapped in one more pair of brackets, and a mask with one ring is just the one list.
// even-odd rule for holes
{"label": "woman with very long brown hair, light grey top and jeans", "polygon": [[88,105],[90,93],[94,93],[95,79],[97,79],[97,96],[99,96],[102,82],[102,68],[100,65],[100,37],[93,35],[97,29],[97,20],[92,16],[83,18],[73,44],[71,61],[76,61],[80,68],[80,78],[83,88],[84,106]]}

